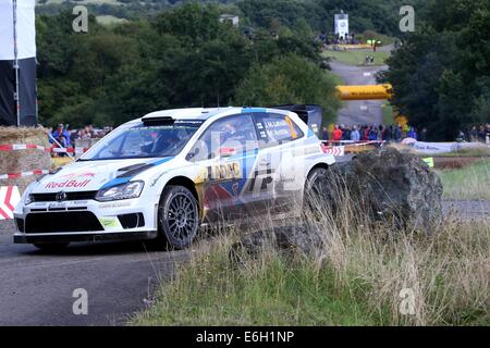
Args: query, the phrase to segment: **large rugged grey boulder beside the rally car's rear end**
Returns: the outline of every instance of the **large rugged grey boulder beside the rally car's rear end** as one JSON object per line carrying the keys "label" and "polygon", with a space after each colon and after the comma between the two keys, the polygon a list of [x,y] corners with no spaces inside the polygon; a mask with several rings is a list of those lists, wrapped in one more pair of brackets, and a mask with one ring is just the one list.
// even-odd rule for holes
{"label": "large rugged grey boulder beside the rally car's rear end", "polygon": [[390,147],[359,153],[333,165],[329,182],[342,183],[341,192],[346,189],[354,207],[372,221],[425,231],[441,221],[441,181],[415,154]]}

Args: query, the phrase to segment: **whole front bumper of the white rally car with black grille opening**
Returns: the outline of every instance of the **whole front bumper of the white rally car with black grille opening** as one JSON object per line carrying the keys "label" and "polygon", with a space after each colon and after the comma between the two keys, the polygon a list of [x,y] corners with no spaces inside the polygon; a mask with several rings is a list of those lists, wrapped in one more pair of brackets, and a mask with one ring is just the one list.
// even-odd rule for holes
{"label": "whole front bumper of the white rally car with black grille opening", "polygon": [[[14,212],[17,232],[13,240],[40,244],[152,239],[158,235],[157,207],[148,199],[20,204]],[[125,222],[121,220],[123,215],[138,217]]]}

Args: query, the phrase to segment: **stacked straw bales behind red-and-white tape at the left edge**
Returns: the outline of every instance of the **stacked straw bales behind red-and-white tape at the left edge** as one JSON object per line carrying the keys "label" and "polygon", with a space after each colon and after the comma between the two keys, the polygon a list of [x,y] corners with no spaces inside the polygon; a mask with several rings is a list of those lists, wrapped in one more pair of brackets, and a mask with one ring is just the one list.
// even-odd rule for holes
{"label": "stacked straw bales behind red-and-white tape at the left edge", "polygon": [[[0,145],[35,144],[49,147],[47,129],[42,127],[0,127]],[[0,174],[14,174],[51,169],[51,156],[37,149],[0,151]],[[0,179],[0,186],[19,186],[24,189],[37,176]]]}

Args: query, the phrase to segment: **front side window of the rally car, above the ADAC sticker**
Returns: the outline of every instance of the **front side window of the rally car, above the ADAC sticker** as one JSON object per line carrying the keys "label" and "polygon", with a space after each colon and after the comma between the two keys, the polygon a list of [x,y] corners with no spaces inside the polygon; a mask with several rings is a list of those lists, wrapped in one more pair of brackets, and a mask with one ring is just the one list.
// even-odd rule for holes
{"label": "front side window of the rally car, above the ADAC sticker", "polygon": [[212,123],[196,141],[187,160],[204,161],[217,156],[240,154],[258,147],[252,116],[240,114]]}

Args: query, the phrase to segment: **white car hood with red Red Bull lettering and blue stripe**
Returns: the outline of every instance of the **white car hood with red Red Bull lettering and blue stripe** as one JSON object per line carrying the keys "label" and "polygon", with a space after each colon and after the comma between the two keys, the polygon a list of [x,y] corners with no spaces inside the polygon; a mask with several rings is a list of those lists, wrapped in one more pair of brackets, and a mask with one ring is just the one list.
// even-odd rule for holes
{"label": "white car hood with red Red Bull lettering and blue stripe", "polygon": [[77,161],[42,177],[32,192],[95,191],[127,183],[136,175],[171,160],[172,158]]}

